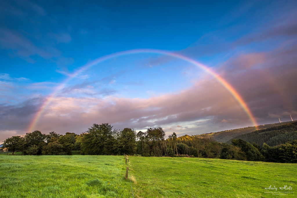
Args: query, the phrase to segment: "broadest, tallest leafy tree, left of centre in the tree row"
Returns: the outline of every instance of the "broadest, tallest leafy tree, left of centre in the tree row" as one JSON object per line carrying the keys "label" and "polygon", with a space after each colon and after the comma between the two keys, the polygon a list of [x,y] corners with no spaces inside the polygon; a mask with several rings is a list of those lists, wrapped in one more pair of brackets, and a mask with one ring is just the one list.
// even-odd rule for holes
{"label": "broadest, tallest leafy tree, left of centre in the tree row", "polygon": [[85,155],[112,155],[116,131],[108,123],[93,124],[81,139],[81,152]]}

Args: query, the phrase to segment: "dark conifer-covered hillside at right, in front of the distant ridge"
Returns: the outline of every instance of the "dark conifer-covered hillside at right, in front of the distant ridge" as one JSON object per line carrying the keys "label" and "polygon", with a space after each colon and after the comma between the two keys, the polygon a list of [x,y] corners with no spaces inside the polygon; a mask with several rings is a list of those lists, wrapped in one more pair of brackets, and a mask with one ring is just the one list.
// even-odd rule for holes
{"label": "dark conifer-covered hillside at right, in front of the distant ridge", "polygon": [[[253,131],[239,135],[234,139],[242,139],[251,144],[255,142],[261,148],[264,142],[269,146],[285,144],[286,142],[297,140],[297,122],[285,123],[279,126]],[[228,141],[227,143],[231,142]]]}

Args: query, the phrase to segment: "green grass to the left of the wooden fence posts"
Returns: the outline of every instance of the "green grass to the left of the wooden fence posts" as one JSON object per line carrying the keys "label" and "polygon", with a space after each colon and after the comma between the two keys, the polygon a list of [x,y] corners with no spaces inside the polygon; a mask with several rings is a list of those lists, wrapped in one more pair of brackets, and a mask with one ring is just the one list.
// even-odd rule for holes
{"label": "green grass to the left of the wooden fence posts", "polygon": [[0,197],[129,197],[124,156],[0,156]]}

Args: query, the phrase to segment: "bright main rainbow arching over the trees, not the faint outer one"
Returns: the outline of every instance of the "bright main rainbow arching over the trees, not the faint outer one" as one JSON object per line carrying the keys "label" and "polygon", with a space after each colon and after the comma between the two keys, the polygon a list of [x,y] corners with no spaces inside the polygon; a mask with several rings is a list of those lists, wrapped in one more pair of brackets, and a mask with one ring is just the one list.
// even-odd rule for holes
{"label": "bright main rainbow arching over the trees, not the faint outer one", "polygon": [[247,106],[246,102],[242,99],[242,97],[238,94],[238,92],[225,80],[223,79],[221,76],[219,76],[216,72],[214,72],[211,68],[208,68],[207,66],[199,63],[198,61],[195,61],[187,56],[178,54],[178,53],[174,53],[174,52],[170,52],[170,51],[166,51],[166,50],[156,50],[156,49],[134,49],[134,50],[126,50],[126,51],[121,51],[121,52],[116,52],[116,53],[112,53],[106,56],[102,56],[99,57],[97,59],[95,59],[94,61],[91,61],[90,63],[87,63],[85,65],[83,65],[80,69],[78,69],[76,72],[74,72],[73,74],[69,75],[69,77],[64,80],[63,83],[61,83],[60,86],[56,87],[56,89],[53,91],[52,94],[50,94],[45,101],[43,102],[43,104],[41,105],[41,107],[39,108],[39,110],[37,111],[37,113],[34,115],[34,118],[32,119],[29,127],[28,127],[28,132],[32,132],[32,130],[34,129],[37,121],[40,119],[42,113],[44,112],[45,108],[47,107],[47,105],[53,100],[54,96],[58,93],[59,90],[61,90],[62,88],[65,87],[65,85],[74,77],[76,77],[79,73],[83,72],[84,70],[90,68],[91,66],[94,66],[96,64],[99,64],[103,61],[106,61],[110,58],[115,58],[117,56],[123,56],[123,55],[129,55],[129,54],[138,54],[138,53],[154,53],[154,54],[161,54],[161,55],[166,55],[166,56],[171,56],[171,57],[175,57],[175,58],[179,58],[182,59],[184,61],[187,61],[195,66],[198,66],[199,68],[205,70],[206,72],[208,72],[210,75],[212,75],[214,78],[217,79],[217,81],[223,86],[225,87],[226,90],[228,90],[230,92],[230,94],[234,97],[234,99],[240,104],[241,108],[244,110],[244,112],[248,115],[248,117],[250,118],[250,120],[252,121],[253,126],[257,126],[257,122],[254,118],[254,116],[252,115],[251,110],[249,109],[249,107]]}

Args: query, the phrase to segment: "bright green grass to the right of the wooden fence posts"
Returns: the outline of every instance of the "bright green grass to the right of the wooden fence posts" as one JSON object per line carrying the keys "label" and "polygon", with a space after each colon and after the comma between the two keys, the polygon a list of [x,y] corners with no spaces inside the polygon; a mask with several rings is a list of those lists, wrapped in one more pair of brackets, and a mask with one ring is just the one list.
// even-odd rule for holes
{"label": "bright green grass to the right of the wooden fence posts", "polygon": [[[129,157],[138,197],[279,197],[264,188],[291,186],[297,164],[203,158]],[[283,191],[278,189],[279,191]],[[281,196],[282,197],[282,196]]]}

